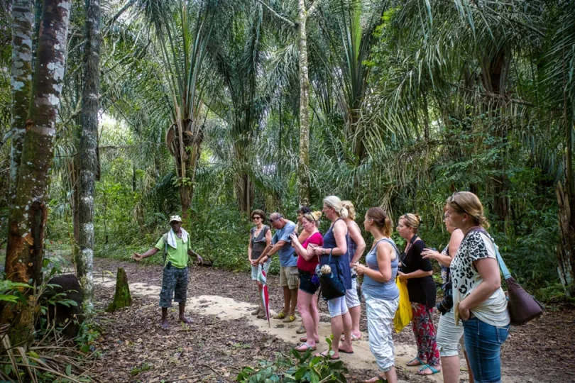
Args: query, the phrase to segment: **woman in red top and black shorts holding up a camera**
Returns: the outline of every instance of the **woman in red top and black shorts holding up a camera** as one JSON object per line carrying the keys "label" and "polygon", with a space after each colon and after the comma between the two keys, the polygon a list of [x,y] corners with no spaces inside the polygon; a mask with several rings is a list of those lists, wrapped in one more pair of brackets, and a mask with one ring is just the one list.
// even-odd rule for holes
{"label": "woman in red top and black shorts holding up a camera", "polygon": [[[302,345],[295,350],[305,352],[315,350],[315,343],[319,340],[319,311],[317,310],[316,292],[319,288],[319,278],[315,274],[315,267],[319,263],[318,257],[313,255],[312,248],[324,243],[322,234],[317,231],[321,211],[305,213],[302,216],[302,226],[306,233],[306,240],[300,243],[296,233],[290,238],[292,246],[297,253],[297,271],[300,273],[300,289],[297,292],[297,310],[302,315],[302,323],[306,336],[300,338]],[[301,235],[301,234],[300,234]]]}

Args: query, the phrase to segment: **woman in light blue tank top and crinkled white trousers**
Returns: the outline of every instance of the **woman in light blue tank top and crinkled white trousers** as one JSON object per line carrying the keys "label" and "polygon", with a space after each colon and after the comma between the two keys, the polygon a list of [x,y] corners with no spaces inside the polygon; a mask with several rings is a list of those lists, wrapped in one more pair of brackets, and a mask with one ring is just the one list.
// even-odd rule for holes
{"label": "woman in light blue tank top and crinkled white trousers", "polygon": [[366,255],[366,265],[354,264],[358,274],[363,275],[361,292],[366,299],[369,348],[379,367],[376,377],[366,382],[398,382],[395,372],[393,348],[393,317],[399,305],[399,290],[395,284],[398,274],[399,251],[390,238],[393,224],[381,208],[371,208],[363,221],[366,231],[373,235],[373,246]]}

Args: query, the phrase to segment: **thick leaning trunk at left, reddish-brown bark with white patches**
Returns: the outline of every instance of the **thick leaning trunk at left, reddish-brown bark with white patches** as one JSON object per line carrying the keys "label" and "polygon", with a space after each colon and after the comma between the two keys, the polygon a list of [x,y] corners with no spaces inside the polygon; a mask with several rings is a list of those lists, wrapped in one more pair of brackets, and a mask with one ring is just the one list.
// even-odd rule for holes
{"label": "thick leaning trunk at left, reddish-brown bark with white patches", "polygon": [[[43,243],[48,213],[48,174],[60,94],[65,72],[70,1],[44,0],[35,61],[33,90],[14,209],[9,216],[6,279],[39,284],[42,281]],[[26,304],[4,306],[1,323],[11,323],[12,345],[26,345],[33,334],[35,296],[26,291]]]}

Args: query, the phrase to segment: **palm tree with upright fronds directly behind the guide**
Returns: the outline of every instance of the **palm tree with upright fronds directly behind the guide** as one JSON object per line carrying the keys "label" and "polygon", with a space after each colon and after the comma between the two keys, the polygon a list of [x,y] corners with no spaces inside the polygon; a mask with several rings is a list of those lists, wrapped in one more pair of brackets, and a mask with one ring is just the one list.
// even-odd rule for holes
{"label": "palm tree with upright fronds directly behind the guide", "polygon": [[140,9],[155,32],[166,87],[170,127],[165,142],[174,157],[182,218],[187,220],[195,183],[199,150],[204,139],[202,64],[207,45],[225,1],[142,0]]}

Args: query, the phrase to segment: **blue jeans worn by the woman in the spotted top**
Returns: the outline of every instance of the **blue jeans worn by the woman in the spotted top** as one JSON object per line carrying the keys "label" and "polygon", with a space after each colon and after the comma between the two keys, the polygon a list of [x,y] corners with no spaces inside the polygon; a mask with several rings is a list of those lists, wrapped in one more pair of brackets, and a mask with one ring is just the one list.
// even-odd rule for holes
{"label": "blue jeans worn by the woman in the spotted top", "polygon": [[469,318],[463,321],[465,349],[476,383],[501,382],[500,348],[509,334],[509,325],[495,327]]}

